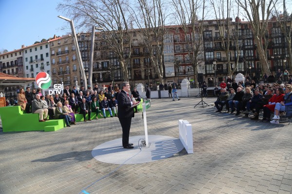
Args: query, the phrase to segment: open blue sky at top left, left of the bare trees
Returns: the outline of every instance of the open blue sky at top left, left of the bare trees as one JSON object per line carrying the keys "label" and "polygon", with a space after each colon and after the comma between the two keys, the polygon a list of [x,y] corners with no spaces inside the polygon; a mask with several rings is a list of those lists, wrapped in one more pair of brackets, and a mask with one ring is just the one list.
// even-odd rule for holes
{"label": "open blue sky at top left, left of the bare trees", "polygon": [[[71,32],[56,11],[59,0],[0,0],[0,50],[12,51],[45,38]],[[61,30],[66,27],[66,30]]]}

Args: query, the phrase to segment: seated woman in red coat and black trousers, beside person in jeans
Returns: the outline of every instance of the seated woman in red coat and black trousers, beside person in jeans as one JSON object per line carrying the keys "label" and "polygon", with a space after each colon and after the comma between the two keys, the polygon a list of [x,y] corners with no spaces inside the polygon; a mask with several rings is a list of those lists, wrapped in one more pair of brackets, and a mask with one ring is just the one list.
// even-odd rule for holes
{"label": "seated woman in red coat and black trousers, beside person in jeans", "polygon": [[271,111],[274,111],[276,103],[283,101],[284,91],[281,87],[276,89],[276,94],[274,94],[271,99],[269,99],[269,104],[264,105],[263,107],[263,122],[270,122],[271,121]]}

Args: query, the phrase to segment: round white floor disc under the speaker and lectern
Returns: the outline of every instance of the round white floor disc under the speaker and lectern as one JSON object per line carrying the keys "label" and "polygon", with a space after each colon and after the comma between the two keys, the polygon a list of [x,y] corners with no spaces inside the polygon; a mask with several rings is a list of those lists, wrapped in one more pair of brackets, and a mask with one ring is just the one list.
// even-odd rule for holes
{"label": "round white floor disc under the speaker and lectern", "polygon": [[[183,150],[180,139],[162,136],[148,135],[149,147],[138,147],[141,136],[129,137],[129,142],[134,144],[133,149],[125,149],[122,146],[122,138],[115,139],[96,146],[91,154],[100,161],[114,164],[136,164],[146,163],[169,158]],[[139,141],[141,145],[141,140]]]}

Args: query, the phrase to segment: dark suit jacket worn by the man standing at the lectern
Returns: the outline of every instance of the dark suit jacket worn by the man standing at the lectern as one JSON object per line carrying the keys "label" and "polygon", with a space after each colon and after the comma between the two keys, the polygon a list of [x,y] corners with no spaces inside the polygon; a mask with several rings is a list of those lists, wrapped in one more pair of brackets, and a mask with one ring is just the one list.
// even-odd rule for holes
{"label": "dark suit jacket worn by the man standing at the lectern", "polygon": [[134,109],[133,107],[131,107],[131,100],[124,90],[122,90],[121,93],[118,95],[117,101],[119,118],[134,117]]}

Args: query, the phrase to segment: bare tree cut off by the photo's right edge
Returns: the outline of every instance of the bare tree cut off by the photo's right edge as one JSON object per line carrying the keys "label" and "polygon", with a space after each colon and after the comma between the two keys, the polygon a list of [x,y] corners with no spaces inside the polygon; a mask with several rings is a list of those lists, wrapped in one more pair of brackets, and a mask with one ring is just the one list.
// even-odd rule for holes
{"label": "bare tree cut off by the photo's right edge", "polygon": [[[283,5],[283,13],[280,13],[280,6],[274,3],[273,1],[273,7],[274,7],[274,16],[277,18],[275,22],[279,24],[279,27],[281,29],[281,32],[285,36],[285,44],[284,46],[287,47],[287,52],[289,55],[289,68],[292,69],[292,42],[291,42],[291,35],[292,35],[292,14],[289,16],[287,12],[287,4],[286,0],[282,1]],[[285,53],[286,54],[286,53]]]}

